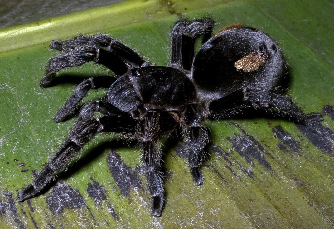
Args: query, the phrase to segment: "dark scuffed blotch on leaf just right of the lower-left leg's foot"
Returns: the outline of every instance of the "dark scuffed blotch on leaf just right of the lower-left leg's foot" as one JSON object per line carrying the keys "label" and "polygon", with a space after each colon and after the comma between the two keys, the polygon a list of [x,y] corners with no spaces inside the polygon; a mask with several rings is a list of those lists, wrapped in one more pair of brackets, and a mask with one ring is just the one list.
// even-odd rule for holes
{"label": "dark scuffed blotch on leaf just right of the lower-left leg's foot", "polygon": [[73,190],[68,184],[57,182],[52,188],[51,195],[46,198],[46,203],[53,215],[62,214],[65,208],[67,209],[82,209],[85,206],[78,190]]}

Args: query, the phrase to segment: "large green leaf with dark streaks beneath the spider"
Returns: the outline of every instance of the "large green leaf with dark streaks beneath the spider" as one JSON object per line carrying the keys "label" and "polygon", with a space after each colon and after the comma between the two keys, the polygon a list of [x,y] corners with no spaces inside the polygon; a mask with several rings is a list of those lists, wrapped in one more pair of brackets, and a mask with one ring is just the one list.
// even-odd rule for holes
{"label": "large green leaf with dark streaks beneath the spider", "polygon": [[[210,16],[215,30],[244,23],[279,41],[290,65],[289,95],[324,121],[303,127],[282,119],[207,121],[212,145],[194,185],[180,146],[164,141],[166,201],[150,215],[139,150],[98,136],[45,193],[19,203],[18,191],[67,136],[75,118],[52,118],[83,78],[110,74],[94,64],[65,70],[38,87],[52,39],[106,32],[157,65],[170,56],[170,29],[182,13]],[[127,1],[0,30],[1,228],[330,228],[334,223],[334,48],[331,1]],[[66,77],[70,76],[66,81]],[[102,96],[91,91],[85,101]],[[118,158],[119,155],[121,158]],[[132,174],[129,196],[111,158]],[[141,179],[142,185],[138,184]]]}

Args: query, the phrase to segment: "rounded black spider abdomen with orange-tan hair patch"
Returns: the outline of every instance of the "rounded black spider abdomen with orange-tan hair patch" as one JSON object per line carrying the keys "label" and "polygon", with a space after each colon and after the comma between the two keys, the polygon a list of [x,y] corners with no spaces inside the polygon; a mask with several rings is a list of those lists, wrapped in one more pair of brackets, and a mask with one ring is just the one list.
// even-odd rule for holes
{"label": "rounded black spider abdomen with orange-tan hair patch", "polygon": [[232,25],[219,30],[198,51],[192,79],[206,98],[220,98],[251,86],[274,86],[285,70],[283,53],[264,32]]}

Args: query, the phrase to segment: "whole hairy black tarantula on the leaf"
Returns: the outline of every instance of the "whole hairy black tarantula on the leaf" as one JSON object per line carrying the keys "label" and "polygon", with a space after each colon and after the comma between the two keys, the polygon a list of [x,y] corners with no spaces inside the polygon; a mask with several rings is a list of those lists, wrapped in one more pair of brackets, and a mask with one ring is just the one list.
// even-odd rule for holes
{"label": "whole hairy black tarantula on the leaf", "polygon": [[[191,176],[196,185],[201,185],[200,167],[210,140],[206,119],[223,119],[254,107],[290,116],[301,124],[322,120],[318,113],[303,113],[278,86],[287,65],[272,37],[242,24],[224,27],[211,37],[213,27],[209,18],[177,21],[171,33],[168,67],[150,65],[107,34],[52,41],[50,48],[61,53],[50,59],[41,88],[47,87],[58,71],[90,61],[106,66],[116,77],[93,77],[76,87],[54,117],[55,122],[70,116],[90,89],[107,88],[107,97],[81,108],[65,142],[32,184],[19,192],[19,201],[35,196],[55,179],[97,132],[113,132],[137,141],[152,195],[152,215],[160,216],[164,189],[158,141],[162,136],[181,130]],[[195,55],[194,44],[199,37],[202,46]],[[94,118],[95,112],[102,117]]]}

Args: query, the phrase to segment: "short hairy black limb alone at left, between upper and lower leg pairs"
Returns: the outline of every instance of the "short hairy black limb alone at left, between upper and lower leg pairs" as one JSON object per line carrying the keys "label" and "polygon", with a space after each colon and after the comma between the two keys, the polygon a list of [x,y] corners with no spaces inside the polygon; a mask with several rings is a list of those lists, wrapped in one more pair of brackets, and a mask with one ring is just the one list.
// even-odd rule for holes
{"label": "short hairy black limb alone at left, between upper and lower leg pairs", "polygon": [[109,88],[116,79],[111,76],[97,76],[83,80],[75,88],[73,94],[67,98],[65,104],[60,108],[54,122],[64,121],[68,116],[74,113],[77,104],[85,97],[90,89]]}

